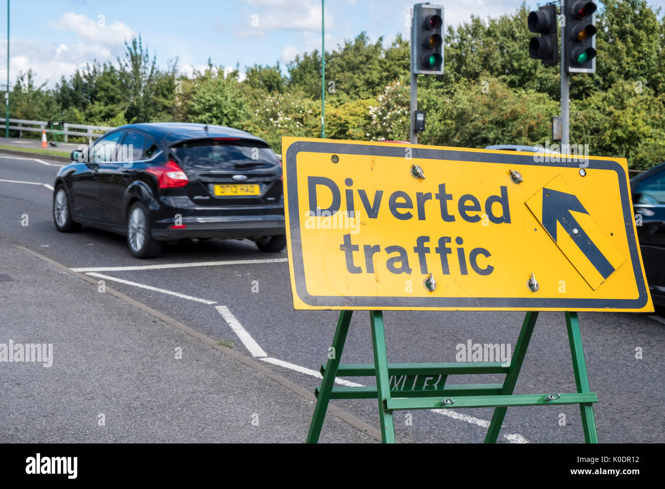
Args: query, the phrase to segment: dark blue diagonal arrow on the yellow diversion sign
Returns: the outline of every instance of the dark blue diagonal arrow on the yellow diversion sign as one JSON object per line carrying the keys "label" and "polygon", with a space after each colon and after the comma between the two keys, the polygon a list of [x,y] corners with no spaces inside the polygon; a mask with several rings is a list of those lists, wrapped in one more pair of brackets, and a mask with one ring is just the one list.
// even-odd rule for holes
{"label": "dark blue diagonal arrow on the yellow diversion sign", "polygon": [[[568,236],[573,238],[573,242],[591,261],[591,264],[602,275],[602,278],[606,279],[612,274],[614,267],[602,254],[598,246],[591,241],[591,238],[575,220],[571,211],[589,214],[577,196],[543,188],[543,228],[557,242],[557,222],[560,222]],[[577,234],[573,230],[577,230]]]}

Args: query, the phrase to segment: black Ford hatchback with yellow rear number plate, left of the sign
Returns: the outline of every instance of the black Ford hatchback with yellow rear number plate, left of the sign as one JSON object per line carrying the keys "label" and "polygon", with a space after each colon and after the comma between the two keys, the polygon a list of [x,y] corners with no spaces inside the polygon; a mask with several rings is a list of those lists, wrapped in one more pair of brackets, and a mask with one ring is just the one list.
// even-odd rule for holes
{"label": "black Ford hatchback with yellow rear number plate, left of the sign", "polygon": [[286,245],[281,161],[247,132],[189,123],[120,126],[58,172],[53,220],[127,236],[132,255],[162,242],[248,238],[261,251]]}

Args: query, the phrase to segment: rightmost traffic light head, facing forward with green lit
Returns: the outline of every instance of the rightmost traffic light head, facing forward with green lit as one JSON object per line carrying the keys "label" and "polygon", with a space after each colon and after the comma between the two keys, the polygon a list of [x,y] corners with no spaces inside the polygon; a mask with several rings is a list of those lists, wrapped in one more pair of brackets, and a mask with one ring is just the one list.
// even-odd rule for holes
{"label": "rightmost traffic light head, facing forward with green lit", "polygon": [[565,71],[594,73],[596,71],[596,26],[593,2],[572,2],[566,7]]}

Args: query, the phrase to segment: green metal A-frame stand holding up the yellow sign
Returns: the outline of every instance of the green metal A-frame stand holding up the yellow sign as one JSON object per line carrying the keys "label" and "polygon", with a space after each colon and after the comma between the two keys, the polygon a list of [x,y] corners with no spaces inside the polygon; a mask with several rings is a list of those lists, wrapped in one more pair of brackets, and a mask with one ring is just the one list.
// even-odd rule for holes
{"label": "green metal A-frame stand holding up the yellow sign", "polygon": [[[319,441],[321,426],[323,426],[323,419],[331,399],[378,399],[381,436],[384,443],[395,442],[392,422],[392,411],[395,409],[494,407],[494,414],[485,435],[485,443],[494,443],[499,436],[501,423],[509,406],[560,404],[579,404],[585,441],[587,443],[598,442],[596,422],[593,417],[593,403],[597,403],[598,398],[595,393],[589,392],[589,379],[587,378],[577,313],[565,313],[577,393],[549,395],[513,395],[519,370],[527,353],[531,333],[533,333],[533,327],[538,317],[537,311],[527,312],[509,365],[499,362],[390,364],[386,357],[382,311],[370,311],[374,365],[340,365],[351,314],[352,311],[340,312],[337,329],[332,339],[334,355],[331,355],[332,358],[328,359],[325,367],[321,367],[323,381],[321,387],[315,391],[317,405],[309,426],[309,434],[307,434],[308,443]],[[481,373],[503,373],[505,380],[503,384],[446,385],[448,375]],[[376,377],[376,387],[334,387],[334,379],[338,375]],[[392,390],[391,377],[394,379]],[[435,379],[435,383],[428,384],[428,381]]]}

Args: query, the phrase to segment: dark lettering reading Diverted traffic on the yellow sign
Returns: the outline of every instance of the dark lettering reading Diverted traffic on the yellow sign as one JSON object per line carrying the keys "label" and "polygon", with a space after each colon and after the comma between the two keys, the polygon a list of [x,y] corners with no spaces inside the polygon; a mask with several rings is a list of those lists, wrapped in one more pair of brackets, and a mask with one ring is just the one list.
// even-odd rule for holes
{"label": "dark lettering reading Diverted traffic on the yellow sign", "polygon": [[[452,223],[461,219],[469,223],[481,222],[486,219],[493,224],[510,224],[510,206],[507,186],[499,186],[495,195],[479,198],[473,194],[463,194],[456,198],[446,190],[446,184],[441,183],[432,192],[415,192],[413,195],[402,190],[392,192],[386,198],[383,190],[376,190],[373,196],[368,196],[366,190],[354,189],[353,180],[344,180],[344,207],[348,213],[355,213],[356,196],[364,213],[370,220],[384,218],[390,213],[398,221],[420,220]],[[317,216],[335,216],[342,206],[342,191],[330,178],[325,176],[310,176],[307,180],[309,193],[309,212]],[[322,208],[320,200],[331,202],[327,208]],[[484,205],[481,204],[481,201]],[[484,212],[483,212],[484,211]],[[360,211],[362,212],[362,211]],[[432,215],[436,219],[432,219]],[[413,263],[418,263],[420,273],[427,274],[427,255],[436,253],[444,275],[451,273],[468,275],[469,269],[477,275],[489,275],[494,270],[487,259],[491,252],[486,247],[475,246],[466,249],[462,236],[418,236],[412,250],[399,245],[361,244],[352,240],[351,234],[344,234],[343,242],[339,247],[344,253],[346,271],[348,273],[374,273],[375,255],[388,253],[386,269],[390,273],[407,273],[413,271]],[[410,258],[410,251],[412,255]],[[452,255],[449,257],[449,255]]]}

